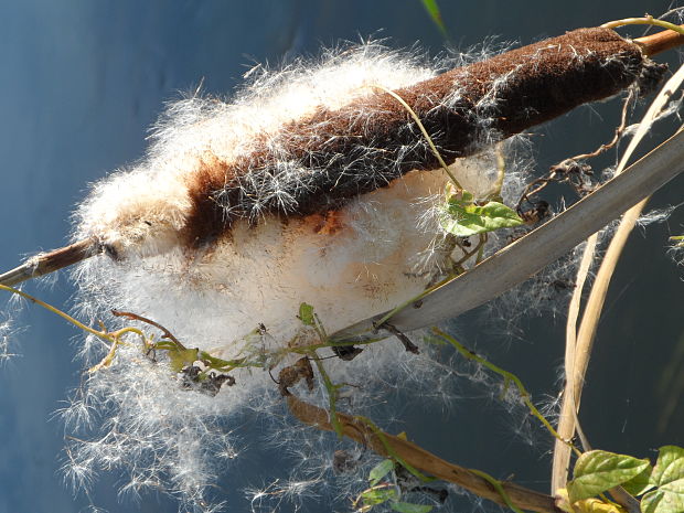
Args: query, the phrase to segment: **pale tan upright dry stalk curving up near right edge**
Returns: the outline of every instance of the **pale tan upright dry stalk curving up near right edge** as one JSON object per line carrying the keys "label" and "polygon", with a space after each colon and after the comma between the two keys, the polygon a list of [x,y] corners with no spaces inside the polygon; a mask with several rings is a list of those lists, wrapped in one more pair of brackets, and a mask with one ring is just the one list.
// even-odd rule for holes
{"label": "pale tan upright dry stalk curving up near right edge", "polygon": [[[671,99],[672,95],[680,87],[682,82],[684,82],[684,66],[680,67],[677,73],[675,73],[670,81],[667,81],[661,93],[649,107],[649,110],[644,115],[637,133],[630,141],[624,156],[618,165],[616,171],[617,174],[622,172],[637,145],[649,131],[651,124],[662,111],[663,107]],[[635,206],[631,207],[622,217],[620,226],[618,227],[618,231],[608,247],[601,267],[599,268],[594,287],[591,288],[591,293],[587,300],[579,332],[577,333],[576,339],[575,322],[579,312],[578,306],[581,297],[581,286],[579,286],[579,284],[573,295],[570,310],[568,311],[568,323],[566,327],[566,384],[563,393],[563,404],[560,406],[560,416],[558,420],[558,434],[564,439],[570,439],[575,435],[576,419],[581,400],[581,389],[584,386],[585,374],[589,364],[591,346],[596,335],[596,330],[598,328],[600,313],[603,308],[606,293],[608,292],[608,286],[610,285],[612,272],[616,268],[618,259],[620,258],[622,248],[627,243],[627,238],[634,227],[637,220],[641,215],[641,211],[643,210],[646,201],[648,200],[642,200]],[[592,257],[594,248],[588,245],[585,248],[585,254],[583,256],[583,267],[585,263],[590,261]],[[577,308],[575,308],[575,304],[577,304]],[[570,451],[567,450],[563,443],[556,442],[552,466],[552,492],[555,492],[555,490],[560,488],[565,488],[569,463]]]}

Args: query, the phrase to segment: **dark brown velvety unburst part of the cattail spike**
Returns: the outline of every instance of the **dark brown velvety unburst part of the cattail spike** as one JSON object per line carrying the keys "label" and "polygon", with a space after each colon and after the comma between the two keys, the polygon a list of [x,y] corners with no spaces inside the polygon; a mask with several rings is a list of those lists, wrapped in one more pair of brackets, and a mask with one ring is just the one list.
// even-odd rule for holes
{"label": "dark brown velvety unburst part of the cattail spike", "polygon": [[[579,29],[395,93],[450,162],[619,93],[648,63],[638,45],[612,30]],[[439,167],[409,114],[384,92],[338,110],[321,108],[284,127],[276,141],[257,142],[261,149],[238,162],[207,162],[197,173],[186,224],[191,246],[229,233],[237,218],[324,215],[413,169]],[[277,156],[269,152],[274,147]],[[287,204],[265,192],[274,180],[282,184],[284,161],[298,177],[285,181]]]}

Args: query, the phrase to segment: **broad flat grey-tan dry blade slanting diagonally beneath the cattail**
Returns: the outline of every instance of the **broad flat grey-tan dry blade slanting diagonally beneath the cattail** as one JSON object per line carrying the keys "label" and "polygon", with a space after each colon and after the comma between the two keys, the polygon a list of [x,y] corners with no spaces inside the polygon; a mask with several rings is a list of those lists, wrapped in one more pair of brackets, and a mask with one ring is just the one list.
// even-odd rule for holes
{"label": "broad flat grey-tan dry blade slanting diagonally beneath the cattail", "polygon": [[[684,132],[678,132],[568,210],[484,261],[421,297],[389,318],[402,332],[438,324],[490,301],[557,260],[684,171]],[[419,308],[416,308],[419,307]],[[387,312],[340,330],[331,342],[376,336]]]}

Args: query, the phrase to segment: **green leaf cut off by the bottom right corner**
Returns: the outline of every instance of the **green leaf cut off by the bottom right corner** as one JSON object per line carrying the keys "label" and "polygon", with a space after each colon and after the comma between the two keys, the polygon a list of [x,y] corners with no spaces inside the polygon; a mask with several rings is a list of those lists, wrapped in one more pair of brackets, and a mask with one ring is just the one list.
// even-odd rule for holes
{"label": "green leaf cut off by the bottom right corner", "polygon": [[643,513],[684,512],[684,449],[676,446],[660,448],[651,483],[658,488],[641,500]]}

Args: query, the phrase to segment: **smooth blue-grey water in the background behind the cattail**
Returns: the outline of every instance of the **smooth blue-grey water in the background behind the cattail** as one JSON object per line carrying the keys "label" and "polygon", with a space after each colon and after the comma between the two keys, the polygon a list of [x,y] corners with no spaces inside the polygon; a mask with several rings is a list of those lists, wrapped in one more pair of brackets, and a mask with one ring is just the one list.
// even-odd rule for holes
{"label": "smooth blue-grey water in the background behind the cattail", "polygon": [[[669,7],[627,0],[440,3],[460,47],[491,35],[531,42]],[[86,184],[140,158],[148,127],[179,92],[201,83],[205,93],[229,95],[254,63],[316,54],[321,44],[339,40],[372,35],[396,47],[418,41],[431,54],[443,47],[417,0],[33,0],[4,1],[0,12],[2,270],[22,255],[64,245],[70,213]],[[581,108],[537,130],[538,170],[607,140],[617,108],[616,101]],[[653,206],[682,202],[683,185],[682,178],[673,182],[656,194]],[[595,446],[645,457],[661,445],[684,443],[681,404],[659,425],[669,392],[684,386],[672,382],[659,388],[663,370],[684,344],[684,270],[664,248],[670,232],[683,233],[683,225],[677,212],[669,225],[638,231],[618,269],[583,403],[585,429]],[[73,293],[64,276],[26,290],[57,306],[67,304]],[[82,368],[72,361],[78,333],[35,308],[25,308],[19,322],[28,327],[18,338],[21,356],[0,368],[0,513],[84,511],[89,499],[83,493],[74,498],[62,482],[64,429],[52,419],[79,381]],[[543,397],[556,391],[563,323],[560,317],[525,320],[520,340],[494,336],[495,327],[477,312],[458,325],[466,342],[517,372]],[[499,478],[514,473],[516,481],[547,491],[551,441],[544,437],[531,449],[511,429],[513,420],[478,402],[474,393],[450,415],[419,400],[402,412],[412,437],[446,459]],[[266,481],[270,458],[255,455],[245,461],[239,484]],[[154,495],[140,503],[117,502],[117,479],[101,475],[92,492],[95,504],[111,512],[173,511],[170,501]],[[239,490],[228,492],[233,511],[248,511]],[[304,511],[330,510],[311,502]]]}

